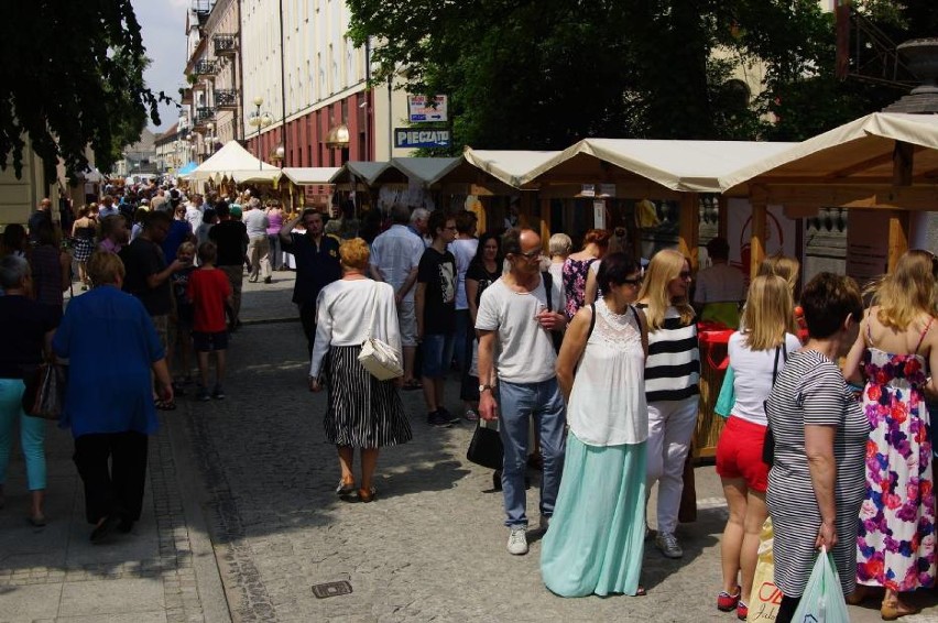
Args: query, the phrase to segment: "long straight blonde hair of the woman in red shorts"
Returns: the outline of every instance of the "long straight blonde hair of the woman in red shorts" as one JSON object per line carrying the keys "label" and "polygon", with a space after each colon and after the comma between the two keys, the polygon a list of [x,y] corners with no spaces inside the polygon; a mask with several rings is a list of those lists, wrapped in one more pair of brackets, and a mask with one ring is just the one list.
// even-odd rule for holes
{"label": "long straight blonde hair of the woman in red shorts", "polygon": [[796,334],[792,308],[795,302],[788,282],[777,275],[757,275],[749,286],[742,325],[750,350],[785,346],[785,334]]}

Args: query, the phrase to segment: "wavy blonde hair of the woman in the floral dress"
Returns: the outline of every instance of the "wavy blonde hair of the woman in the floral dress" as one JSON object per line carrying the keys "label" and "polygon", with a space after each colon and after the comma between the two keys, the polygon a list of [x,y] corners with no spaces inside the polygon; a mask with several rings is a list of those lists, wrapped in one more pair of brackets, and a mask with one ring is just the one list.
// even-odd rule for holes
{"label": "wavy blonde hair of the woman in the floral dress", "polygon": [[912,250],[902,254],[895,270],[874,282],[868,293],[879,305],[876,319],[884,327],[904,331],[921,314],[936,316],[935,255]]}

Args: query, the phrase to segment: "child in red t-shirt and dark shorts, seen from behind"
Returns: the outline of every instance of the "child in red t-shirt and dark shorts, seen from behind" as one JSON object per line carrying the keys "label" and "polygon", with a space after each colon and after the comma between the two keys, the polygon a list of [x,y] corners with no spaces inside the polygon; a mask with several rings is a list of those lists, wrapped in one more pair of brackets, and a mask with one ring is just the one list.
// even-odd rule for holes
{"label": "child in red t-shirt and dark shorts, seen from behind", "polygon": [[193,346],[198,358],[199,387],[196,398],[208,401],[208,356],[215,353],[215,390],[210,396],[221,400],[225,391],[225,351],[228,349],[228,331],[225,306],[232,304],[231,285],[225,273],[215,266],[218,248],[214,242],[203,242],[198,248],[201,267],[189,276],[186,294],[194,308]]}

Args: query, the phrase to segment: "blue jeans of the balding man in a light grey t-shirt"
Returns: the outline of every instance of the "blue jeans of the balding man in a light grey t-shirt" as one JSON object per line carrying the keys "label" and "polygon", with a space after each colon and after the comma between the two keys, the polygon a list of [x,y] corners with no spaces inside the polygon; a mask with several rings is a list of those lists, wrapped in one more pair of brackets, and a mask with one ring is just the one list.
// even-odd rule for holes
{"label": "blue jeans of the balding man in a light grey t-shirt", "polygon": [[502,493],[508,515],[506,526],[527,525],[524,472],[527,469],[527,424],[532,416],[541,433],[541,456],[544,459],[541,514],[547,517],[554,514],[564,471],[566,414],[564,396],[556,379],[539,383],[499,382],[499,430],[505,451]]}

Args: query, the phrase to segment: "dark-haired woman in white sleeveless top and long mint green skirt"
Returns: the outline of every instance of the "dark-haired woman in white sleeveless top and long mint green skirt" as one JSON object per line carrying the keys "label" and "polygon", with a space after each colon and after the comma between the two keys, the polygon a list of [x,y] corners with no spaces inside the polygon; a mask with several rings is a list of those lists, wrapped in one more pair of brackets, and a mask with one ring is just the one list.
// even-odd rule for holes
{"label": "dark-haired woman in white sleeveless top and long mint green skirt", "polygon": [[577,312],[557,358],[570,431],[541,572],[561,597],[642,591],[648,347],[644,316],[632,307],[641,269],[612,253],[597,283],[602,297]]}

